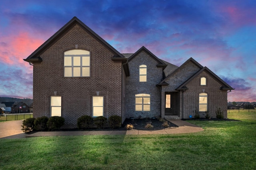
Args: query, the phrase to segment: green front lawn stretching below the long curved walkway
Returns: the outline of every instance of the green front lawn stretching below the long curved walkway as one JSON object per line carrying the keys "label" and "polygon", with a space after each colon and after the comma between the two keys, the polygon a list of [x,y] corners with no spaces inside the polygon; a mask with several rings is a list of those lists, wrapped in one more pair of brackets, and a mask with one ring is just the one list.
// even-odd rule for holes
{"label": "green front lawn stretching below the long curved walkway", "polygon": [[256,169],[256,111],[242,121],[189,121],[204,131],[0,139],[0,169]]}

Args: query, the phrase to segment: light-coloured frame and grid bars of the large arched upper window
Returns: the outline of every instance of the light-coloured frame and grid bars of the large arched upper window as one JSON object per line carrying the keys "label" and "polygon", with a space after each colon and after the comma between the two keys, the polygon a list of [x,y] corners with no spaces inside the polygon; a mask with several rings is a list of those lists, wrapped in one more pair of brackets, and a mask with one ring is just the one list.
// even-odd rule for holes
{"label": "light-coloured frame and grid bars of the large arched upper window", "polygon": [[[66,52],[69,51],[76,51],[76,50],[80,50],[80,51],[86,51],[89,52],[89,54],[66,54]],[[74,52],[75,53],[75,52]],[[65,57],[71,57],[71,66],[65,66]],[[80,57],[80,66],[74,66],[74,57]],[[83,57],[89,57],[89,63],[86,66],[83,66]],[[88,50],[84,50],[84,49],[71,49],[71,50],[67,50],[64,51],[64,77],[90,77],[90,61],[91,61],[91,57],[90,57],[90,51]],[[65,68],[71,68],[71,76],[65,76]],[[74,68],[80,68],[80,76],[74,76]],[[89,75],[88,76],[83,76],[83,68],[89,68]]]}

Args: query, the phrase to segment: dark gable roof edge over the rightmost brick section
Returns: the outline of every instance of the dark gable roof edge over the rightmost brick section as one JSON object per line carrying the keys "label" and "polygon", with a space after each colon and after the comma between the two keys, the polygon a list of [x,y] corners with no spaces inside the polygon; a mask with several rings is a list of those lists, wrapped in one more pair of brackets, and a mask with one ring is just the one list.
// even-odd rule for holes
{"label": "dark gable roof edge over the rightmost brick section", "polygon": [[228,85],[226,82],[224,82],[220,77],[218,77],[214,72],[212,72],[209,68],[204,67],[201,70],[199,70],[196,74],[194,74],[192,77],[190,77],[186,82],[184,82],[182,85],[180,85],[176,90],[187,90],[188,88],[186,87],[186,84],[188,84],[191,80],[196,78],[200,73],[203,71],[208,72],[213,78],[215,78],[222,86],[220,87],[220,90],[234,90],[230,85]]}

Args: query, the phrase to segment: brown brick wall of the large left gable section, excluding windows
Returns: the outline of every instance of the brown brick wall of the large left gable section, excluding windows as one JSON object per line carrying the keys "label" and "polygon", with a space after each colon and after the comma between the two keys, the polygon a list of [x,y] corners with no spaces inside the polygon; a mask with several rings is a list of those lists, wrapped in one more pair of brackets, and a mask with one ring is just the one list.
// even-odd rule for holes
{"label": "brown brick wall of the large left gable section, excluding windows", "polygon": [[[90,51],[90,77],[64,77],[64,51]],[[78,117],[92,116],[92,96],[104,96],[104,116],[122,114],[122,63],[85,29],[76,24],[54,42],[34,64],[34,117],[50,117],[50,96],[62,97],[65,127],[76,127]],[[123,82],[124,83],[124,82]],[[124,115],[124,113],[123,113]]]}

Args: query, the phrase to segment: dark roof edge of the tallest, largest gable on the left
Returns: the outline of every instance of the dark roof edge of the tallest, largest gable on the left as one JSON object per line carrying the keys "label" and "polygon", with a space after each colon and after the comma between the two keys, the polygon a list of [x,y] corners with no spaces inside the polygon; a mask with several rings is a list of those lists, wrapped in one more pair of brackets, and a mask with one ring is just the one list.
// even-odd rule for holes
{"label": "dark roof edge of the tallest, largest gable on the left", "polygon": [[[83,29],[88,31],[90,35],[92,35],[95,39],[97,39],[100,43],[102,43],[105,47],[107,47],[110,51],[114,53],[114,57],[112,57],[113,61],[122,61],[124,64],[127,61],[127,58],[124,57],[121,53],[119,53],[114,47],[112,47],[109,43],[107,43],[102,37],[100,37],[98,34],[96,34],[92,29],[90,29],[87,25],[85,25],[82,21],[80,21],[78,18],[74,17],[68,23],[66,23],[61,29],[59,29],[52,37],[50,37],[47,41],[45,41],[36,51],[34,51],[30,56],[28,56],[26,59],[23,59],[24,61],[27,61],[29,63],[41,63],[42,58],[40,55],[50,46],[52,43],[57,41],[62,34],[66,33],[71,27],[73,27],[75,24],[80,25]],[[127,63],[126,63],[127,65]],[[129,74],[128,65],[124,66],[126,75]]]}

